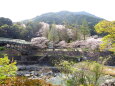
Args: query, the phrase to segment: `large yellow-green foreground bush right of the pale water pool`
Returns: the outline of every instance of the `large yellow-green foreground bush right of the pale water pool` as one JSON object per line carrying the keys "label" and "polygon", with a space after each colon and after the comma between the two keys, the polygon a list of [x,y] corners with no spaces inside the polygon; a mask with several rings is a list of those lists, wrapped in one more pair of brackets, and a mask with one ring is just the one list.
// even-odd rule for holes
{"label": "large yellow-green foreground bush right of the pale water pool", "polygon": [[71,75],[67,78],[66,86],[98,86],[103,71],[101,64],[91,61],[81,63],[62,61],[60,66],[63,67],[63,72]]}

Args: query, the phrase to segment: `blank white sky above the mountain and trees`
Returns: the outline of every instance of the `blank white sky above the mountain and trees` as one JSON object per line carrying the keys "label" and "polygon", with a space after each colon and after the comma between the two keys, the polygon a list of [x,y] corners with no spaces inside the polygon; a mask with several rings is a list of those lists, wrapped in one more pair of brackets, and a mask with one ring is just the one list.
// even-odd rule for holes
{"label": "blank white sky above the mountain and trees", "polygon": [[58,11],[86,11],[113,21],[115,0],[0,0],[0,17],[10,18],[13,22]]}

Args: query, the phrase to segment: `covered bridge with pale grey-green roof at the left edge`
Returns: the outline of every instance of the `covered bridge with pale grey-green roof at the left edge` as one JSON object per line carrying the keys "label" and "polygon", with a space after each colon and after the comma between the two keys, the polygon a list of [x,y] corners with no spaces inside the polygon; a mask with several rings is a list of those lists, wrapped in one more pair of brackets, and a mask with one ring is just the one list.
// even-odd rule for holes
{"label": "covered bridge with pale grey-green roof at the left edge", "polygon": [[22,54],[29,53],[28,49],[30,49],[30,45],[31,42],[27,42],[25,40],[0,37],[0,46],[15,49]]}

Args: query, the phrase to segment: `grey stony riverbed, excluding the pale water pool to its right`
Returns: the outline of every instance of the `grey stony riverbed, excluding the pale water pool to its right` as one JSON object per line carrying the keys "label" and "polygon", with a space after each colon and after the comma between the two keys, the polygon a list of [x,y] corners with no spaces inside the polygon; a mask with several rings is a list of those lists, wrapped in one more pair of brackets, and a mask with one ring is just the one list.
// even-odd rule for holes
{"label": "grey stony riverbed, excluding the pale water pool to its right", "polygon": [[29,78],[49,78],[56,76],[56,73],[59,73],[59,70],[53,66],[46,65],[17,65],[18,76],[26,76]]}

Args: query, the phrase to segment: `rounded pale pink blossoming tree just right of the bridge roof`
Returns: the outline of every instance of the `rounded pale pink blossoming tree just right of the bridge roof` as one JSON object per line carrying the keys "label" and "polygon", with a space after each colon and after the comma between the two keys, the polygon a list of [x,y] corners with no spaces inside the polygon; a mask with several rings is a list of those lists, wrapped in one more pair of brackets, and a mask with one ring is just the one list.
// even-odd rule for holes
{"label": "rounded pale pink blossoming tree just right of the bridge roof", "polygon": [[32,46],[36,46],[38,48],[47,48],[49,40],[45,37],[36,37],[31,40]]}

